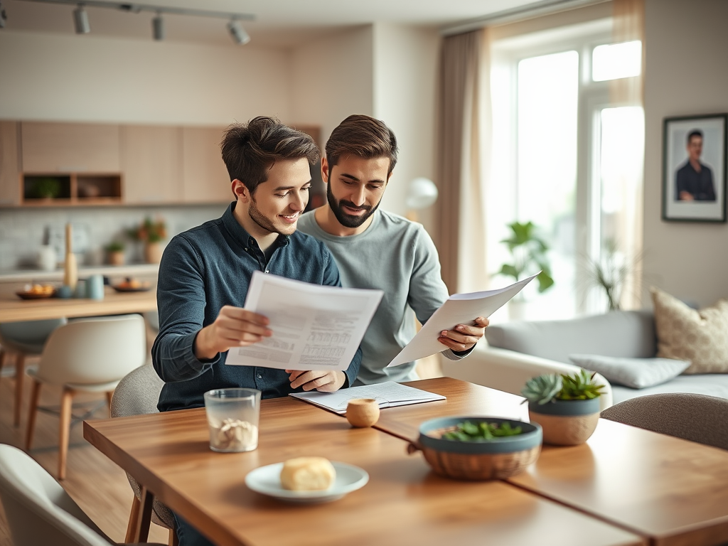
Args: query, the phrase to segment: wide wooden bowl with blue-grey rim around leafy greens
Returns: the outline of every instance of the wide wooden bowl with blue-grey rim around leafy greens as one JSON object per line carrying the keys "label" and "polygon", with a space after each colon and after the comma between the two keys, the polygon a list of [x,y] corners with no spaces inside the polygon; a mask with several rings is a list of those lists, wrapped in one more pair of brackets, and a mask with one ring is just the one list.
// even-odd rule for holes
{"label": "wide wooden bowl with blue-grey rim around leafy greens", "polygon": [[[522,427],[515,436],[482,442],[461,442],[440,438],[446,430],[463,421],[509,423]],[[541,453],[542,431],[538,424],[502,417],[443,417],[419,427],[419,441],[408,447],[410,453],[422,451],[432,470],[457,480],[502,480],[523,472]]]}

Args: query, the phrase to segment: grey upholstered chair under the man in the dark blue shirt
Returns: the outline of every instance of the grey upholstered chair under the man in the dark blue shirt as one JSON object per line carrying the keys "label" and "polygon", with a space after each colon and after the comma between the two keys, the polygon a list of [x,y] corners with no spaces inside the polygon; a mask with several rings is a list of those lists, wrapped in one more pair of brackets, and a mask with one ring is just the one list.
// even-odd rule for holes
{"label": "grey upholstered chair under the man in the dark blue shirt", "polygon": [[[157,372],[151,365],[143,365],[124,376],[119,381],[111,398],[111,417],[126,417],[131,415],[156,414],[159,392],[165,384],[159,379]],[[132,522],[137,521],[139,507],[141,506],[141,487],[137,481],[127,473],[129,483],[134,490],[134,501],[129,515],[130,526],[127,529],[127,542],[132,539]],[[177,543],[175,535],[174,517],[170,509],[161,502],[154,500],[154,510],[151,521],[170,530],[170,545]]]}

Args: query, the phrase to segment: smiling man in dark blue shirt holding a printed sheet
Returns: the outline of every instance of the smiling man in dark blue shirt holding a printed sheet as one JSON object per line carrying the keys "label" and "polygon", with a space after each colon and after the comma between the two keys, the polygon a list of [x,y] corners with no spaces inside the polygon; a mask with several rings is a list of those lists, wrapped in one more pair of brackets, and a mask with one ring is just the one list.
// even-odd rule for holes
{"label": "smiling man in dark blue shirt holding a printed sheet", "polygon": [[154,369],[165,381],[159,411],[202,407],[207,390],[225,387],[260,389],[264,398],[348,387],[360,350],[346,372],[289,375],[225,365],[229,349],[272,335],[266,317],[242,309],[254,271],[318,285],[341,282],[325,245],[296,232],[309,197],[309,165],[320,157],[312,138],[261,116],[229,127],[222,155],[236,201],[221,218],[174,237],[159,266],[159,335],[152,347]]}

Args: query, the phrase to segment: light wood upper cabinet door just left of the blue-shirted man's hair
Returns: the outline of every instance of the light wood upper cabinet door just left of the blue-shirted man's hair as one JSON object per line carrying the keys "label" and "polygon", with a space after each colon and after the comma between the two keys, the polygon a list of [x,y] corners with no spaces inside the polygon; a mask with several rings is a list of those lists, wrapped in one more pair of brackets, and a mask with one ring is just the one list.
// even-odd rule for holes
{"label": "light wood upper cabinet door just left of the blue-shirted man's hair", "polygon": [[233,199],[230,176],[220,152],[224,127],[182,128],[182,185],[186,203]]}

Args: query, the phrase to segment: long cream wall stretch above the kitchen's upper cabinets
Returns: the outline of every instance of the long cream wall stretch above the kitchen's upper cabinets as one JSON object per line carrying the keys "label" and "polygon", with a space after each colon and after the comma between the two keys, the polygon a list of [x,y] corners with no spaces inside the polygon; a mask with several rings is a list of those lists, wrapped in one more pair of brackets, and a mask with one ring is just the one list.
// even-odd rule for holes
{"label": "long cream wall stretch above the kitchen's upper cabinets", "polygon": [[0,32],[0,119],[287,121],[290,82],[280,50]]}

